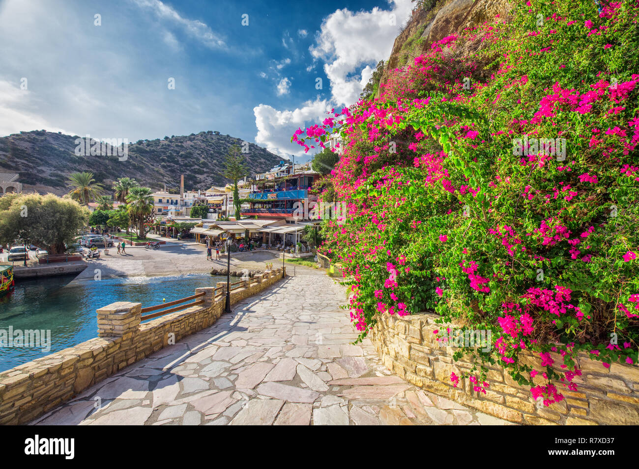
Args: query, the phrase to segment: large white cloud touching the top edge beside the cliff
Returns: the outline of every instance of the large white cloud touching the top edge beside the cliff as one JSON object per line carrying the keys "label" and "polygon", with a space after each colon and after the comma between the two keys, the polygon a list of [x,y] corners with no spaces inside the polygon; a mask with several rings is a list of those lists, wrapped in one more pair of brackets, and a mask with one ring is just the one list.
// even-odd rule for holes
{"label": "large white cloud touching the top edge beside the cliff", "polygon": [[412,9],[410,0],[392,0],[391,5],[391,10],[375,7],[356,13],[344,8],[322,22],[317,44],[310,50],[313,57],[325,62],[335,103],[355,103],[362,83],[368,81],[364,74],[370,77],[369,64],[388,59],[399,28]]}

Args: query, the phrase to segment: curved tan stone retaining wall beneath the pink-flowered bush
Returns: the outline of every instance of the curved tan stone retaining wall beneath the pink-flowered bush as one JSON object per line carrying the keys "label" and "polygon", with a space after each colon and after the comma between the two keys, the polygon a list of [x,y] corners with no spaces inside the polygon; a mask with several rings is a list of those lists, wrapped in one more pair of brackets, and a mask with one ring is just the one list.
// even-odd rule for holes
{"label": "curved tan stone retaining wall beneath the pink-flowered bush", "polygon": [[[497,366],[489,367],[486,394],[472,391],[467,379],[460,378],[458,387],[453,387],[450,373],[461,376],[472,363],[466,359],[453,361],[452,354],[458,349],[436,341],[433,331],[447,327],[435,324],[436,318],[429,313],[381,315],[369,337],[385,366],[427,391],[519,424],[639,424],[639,367],[616,363],[606,369],[585,354],[578,358],[582,375],[573,380],[577,391],[557,384],[565,399],[548,407],[541,398],[540,402],[532,399],[530,387],[518,385]],[[557,367],[563,363],[557,354],[551,357]],[[520,358],[543,369],[539,357],[525,354]],[[541,375],[535,382],[537,378],[539,384],[544,383]]]}

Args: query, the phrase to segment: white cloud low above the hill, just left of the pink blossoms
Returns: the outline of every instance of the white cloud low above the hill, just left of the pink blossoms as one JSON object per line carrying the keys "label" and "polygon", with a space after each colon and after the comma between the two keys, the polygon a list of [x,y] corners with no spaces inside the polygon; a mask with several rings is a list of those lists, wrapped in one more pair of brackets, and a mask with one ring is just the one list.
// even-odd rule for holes
{"label": "white cloud low above the hill, just left of the pink blossoms", "polygon": [[[253,108],[258,135],[255,142],[266,147],[272,153],[288,158],[291,154],[304,155],[304,148],[291,142],[291,136],[298,128],[322,121],[332,106],[328,100],[316,98],[307,101],[301,108],[293,111],[277,110],[269,105],[260,104]],[[312,150],[309,153],[313,152]]]}

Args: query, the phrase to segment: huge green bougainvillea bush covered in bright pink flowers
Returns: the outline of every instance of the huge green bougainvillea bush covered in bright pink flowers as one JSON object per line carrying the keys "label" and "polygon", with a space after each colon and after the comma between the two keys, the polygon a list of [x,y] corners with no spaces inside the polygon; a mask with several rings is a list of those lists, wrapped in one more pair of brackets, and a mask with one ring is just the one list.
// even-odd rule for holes
{"label": "huge green bougainvillea bush covered in bright pink flowers", "polygon": [[348,216],[320,250],[360,339],[380,315],[434,310],[491,331],[489,351],[456,352],[476,358],[475,391],[500,364],[546,405],[576,389],[578,352],[636,364],[639,2],[600,4],[519,3],[296,131],[306,149],[341,135]]}

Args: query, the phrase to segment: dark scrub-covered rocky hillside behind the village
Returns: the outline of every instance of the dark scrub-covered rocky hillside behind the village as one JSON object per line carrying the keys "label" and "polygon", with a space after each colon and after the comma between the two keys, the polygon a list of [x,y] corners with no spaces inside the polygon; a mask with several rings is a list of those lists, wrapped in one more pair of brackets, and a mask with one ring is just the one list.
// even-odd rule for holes
{"label": "dark scrub-covered rocky hillside behind the village", "polygon": [[[128,145],[127,160],[118,156],[76,156],[77,135],[45,130],[20,132],[0,137],[0,172],[19,173],[24,190],[66,193],[66,178],[76,171],[91,171],[98,182],[110,188],[119,177],[133,177],[153,189],[178,190],[180,174],[187,189],[207,189],[226,184],[220,174],[231,145],[242,145],[240,138],[217,131],[138,140]],[[94,140],[95,142],[95,140]],[[281,158],[258,145],[249,144],[245,154],[250,174],[264,172]]]}

